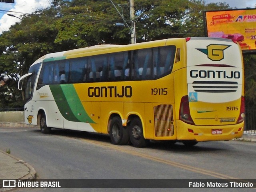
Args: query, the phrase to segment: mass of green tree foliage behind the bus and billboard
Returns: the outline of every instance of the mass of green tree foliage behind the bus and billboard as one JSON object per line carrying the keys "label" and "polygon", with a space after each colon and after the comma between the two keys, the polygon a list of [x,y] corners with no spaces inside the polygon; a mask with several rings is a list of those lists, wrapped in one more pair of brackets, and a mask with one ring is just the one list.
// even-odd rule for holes
{"label": "mass of green tree foliage behind the bus and billboard", "polygon": [[[130,25],[128,0],[113,0]],[[98,44],[129,44],[130,28],[110,0],[51,0],[51,6],[26,14],[0,35],[0,108],[24,105],[18,78],[47,53]],[[203,11],[230,8],[226,3],[203,0],[134,0],[136,41],[204,36]],[[124,23],[124,26],[116,26]],[[246,57],[246,70],[256,58]],[[246,100],[256,104],[256,74],[246,71]]]}

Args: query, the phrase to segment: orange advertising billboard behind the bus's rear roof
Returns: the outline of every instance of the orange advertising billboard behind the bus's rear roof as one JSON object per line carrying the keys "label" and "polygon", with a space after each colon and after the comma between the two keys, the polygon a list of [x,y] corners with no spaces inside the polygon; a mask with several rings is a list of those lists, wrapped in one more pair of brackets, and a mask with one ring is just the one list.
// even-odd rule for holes
{"label": "orange advertising billboard behind the bus's rear roof", "polygon": [[205,11],[204,24],[206,36],[232,39],[243,52],[256,52],[256,9]]}

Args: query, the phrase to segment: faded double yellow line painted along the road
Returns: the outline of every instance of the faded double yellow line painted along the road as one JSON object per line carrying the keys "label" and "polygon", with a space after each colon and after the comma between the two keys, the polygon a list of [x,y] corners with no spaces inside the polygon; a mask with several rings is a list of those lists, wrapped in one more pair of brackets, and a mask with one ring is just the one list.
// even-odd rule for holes
{"label": "faded double yellow line painted along the road", "polygon": [[205,169],[202,169],[202,168],[197,168],[197,167],[194,167],[194,166],[189,166],[189,165],[186,165],[186,164],[181,164],[181,163],[178,163],[178,162],[174,162],[174,161],[165,160],[165,159],[161,159],[161,158],[158,158],[158,157],[150,156],[148,154],[135,152],[133,150],[129,150],[129,149],[124,148],[124,146],[117,146],[117,145],[113,145],[113,144],[110,144],[110,143],[95,141],[95,140],[90,140],[90,139],[82,139],[82,140],[85,140],[88,143],[96,144],[96,145],[104,147],[104,148],[112,148],[114,150],[118,150],[118,151],[124,152],[126,154],[139,156],[139,157],[146,158],[146,159],[149,159],[149,160],[152,160],[152,161],[161,162],[161,163],[164,163],[164,164],[167,164],[167,165],[170,165],[170,166],[182,168],[182,169],[185,169],[185,170],[189,170],[189,171],[204,174],[204,175],[209,175],[209,176],[216,177],[216,178],[219,178],[219,179],[241,180],[239,178],[235,178],[235,177],[232,177],[232,176],[220,174],[220,173],[213,172],[213,171],[210,171],[210,170],[205,170]]}

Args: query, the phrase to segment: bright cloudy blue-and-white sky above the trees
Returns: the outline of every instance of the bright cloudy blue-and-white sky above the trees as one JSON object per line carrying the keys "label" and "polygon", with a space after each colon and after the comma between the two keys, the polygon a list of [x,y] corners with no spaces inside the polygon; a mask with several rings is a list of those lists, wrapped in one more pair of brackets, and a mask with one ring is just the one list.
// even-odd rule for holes
{"label": "bright cloudy blue-and-white sky above the trees", "polygon": [[[256,0],[205,0],[205,2],[206,4],[226,2],[230,7],[236,8],[255,8],[256,5]],[[136,3],[136,0],[134,0],[134,3]],[[20,19],[8,16],[7,14],[22,18],[23,14],[32,13],[49,5],[49,0],[15,0],[15,4],[0,2],[0,34],[3,31],[9,30],[11,25],[20,22]]]}

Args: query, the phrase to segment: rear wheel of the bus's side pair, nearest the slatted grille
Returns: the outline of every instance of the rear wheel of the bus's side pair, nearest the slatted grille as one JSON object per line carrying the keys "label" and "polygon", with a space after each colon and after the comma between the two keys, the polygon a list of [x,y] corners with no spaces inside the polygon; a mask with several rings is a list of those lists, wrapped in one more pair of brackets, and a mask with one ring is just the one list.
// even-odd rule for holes
{"label": "rear wheel of the bus's side pair, nearest the slatted grille", "polygon": [[134,147],[142,148],[146,147],[149,140],[143,136],[143,128],[140,118],[133,118],[129,125],[130,141]]}

